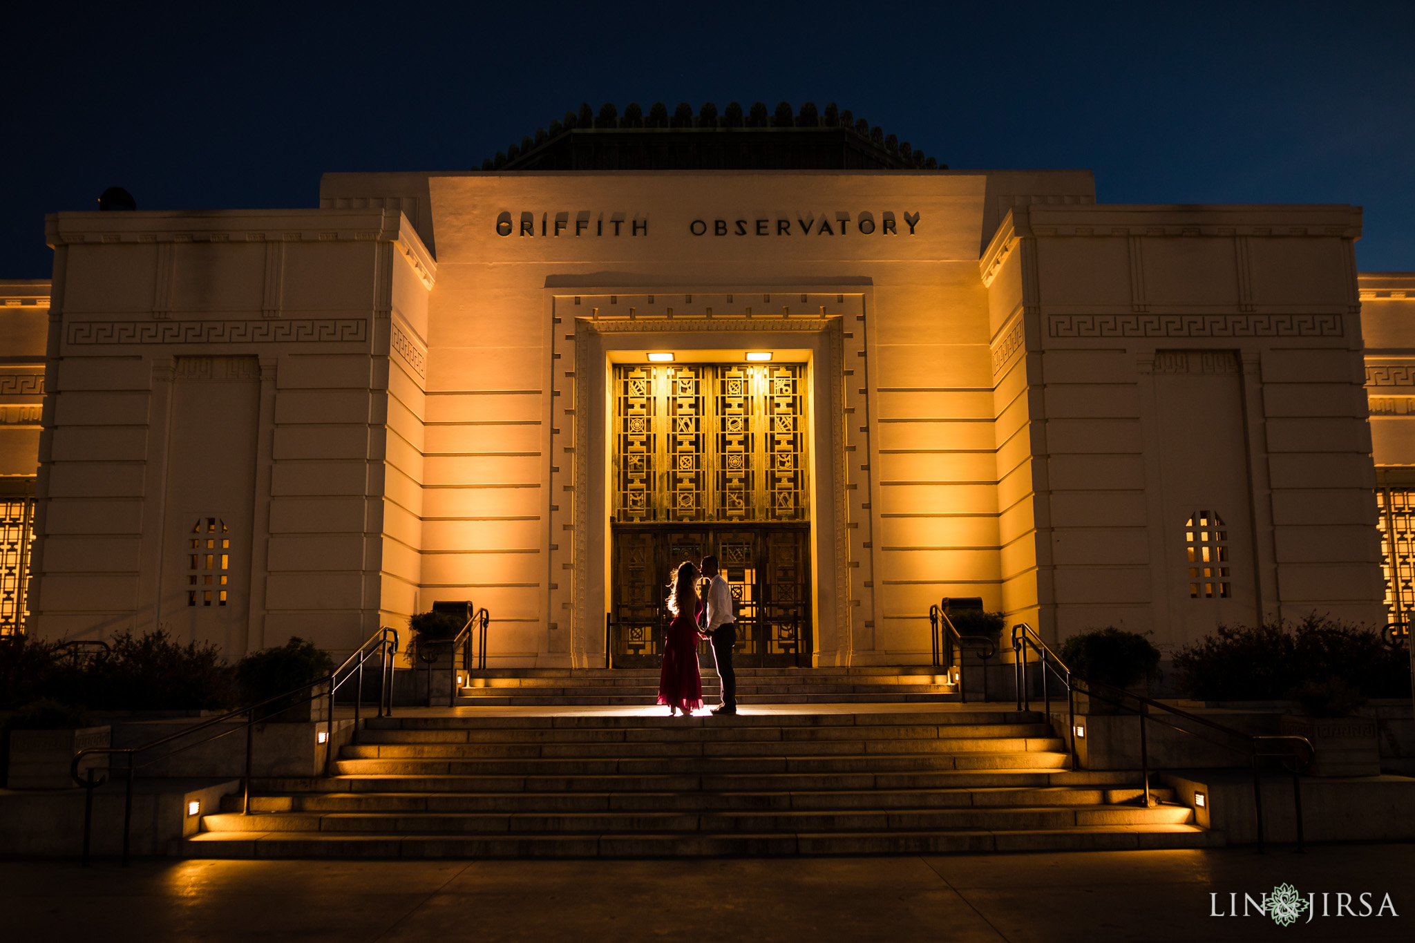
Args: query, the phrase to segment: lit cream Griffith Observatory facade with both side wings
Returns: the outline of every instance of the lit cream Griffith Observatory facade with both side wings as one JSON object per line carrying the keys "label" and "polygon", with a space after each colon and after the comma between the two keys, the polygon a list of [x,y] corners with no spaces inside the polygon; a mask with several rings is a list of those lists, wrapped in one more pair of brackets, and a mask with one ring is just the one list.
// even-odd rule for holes
{"label": "lit cream Griffith Observatory facade with both side wings", "polygon": [[507,168],[47,232],[0,312],[47,638],[347,650],[473,599],[492,663],[593,666],[709,550],[816,664],[927,660],[941,597],[1162,648],[1415,604],[1415,277],[1357,276],[1358,208]]}

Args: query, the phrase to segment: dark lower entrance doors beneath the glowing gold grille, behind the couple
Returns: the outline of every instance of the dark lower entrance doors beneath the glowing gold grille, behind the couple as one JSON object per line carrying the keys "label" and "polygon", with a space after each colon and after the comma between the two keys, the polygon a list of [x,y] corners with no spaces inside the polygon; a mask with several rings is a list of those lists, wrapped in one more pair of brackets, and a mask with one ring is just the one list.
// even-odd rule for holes
{"label": "dark lower entrance doors beneath the glowing gold grille, behind the couple", "polygon": [[[614,525],[610,664],[658,667],[668,582],[685,560],[716,554],[737,616],[740,667],[811,664],[811,541],[805,525]],[[703,642],[699,660],[712,666]]]}

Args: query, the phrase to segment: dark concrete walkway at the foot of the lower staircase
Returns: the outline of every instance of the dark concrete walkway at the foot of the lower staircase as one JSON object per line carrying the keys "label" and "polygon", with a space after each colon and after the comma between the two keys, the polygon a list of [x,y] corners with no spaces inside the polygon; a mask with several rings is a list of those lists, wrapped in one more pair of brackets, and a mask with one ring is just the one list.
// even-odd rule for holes
{"label": "dark concrete walkway at the foot of the lower staircase", "polygon": [[[1411,940],[1415,845],[712,861],[0,861],[10,940]],[[1398,916],[1227,913],[1278,884]],[[1305,918],[1306,915],[1303,915]]]}

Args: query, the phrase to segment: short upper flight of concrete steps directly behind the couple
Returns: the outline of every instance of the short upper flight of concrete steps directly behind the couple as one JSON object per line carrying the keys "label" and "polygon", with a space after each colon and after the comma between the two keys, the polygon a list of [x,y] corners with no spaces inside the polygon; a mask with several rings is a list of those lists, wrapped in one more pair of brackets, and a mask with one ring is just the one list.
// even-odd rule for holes
{"label": "short upper flight of concrete steps directly behind the couple", "polygon": [[[932,667],[739,667],[740,704],[880,704],[957,701],[954,684],[937,684]],[[443,674],[446,677],[446,674]],[[658,669],[502,669],[477,672],[457,704],[549,707],[652,704]],[[717,673],[703,672],[703,698],[719,703]],[[446,697],[443,698],[446,703]]]}

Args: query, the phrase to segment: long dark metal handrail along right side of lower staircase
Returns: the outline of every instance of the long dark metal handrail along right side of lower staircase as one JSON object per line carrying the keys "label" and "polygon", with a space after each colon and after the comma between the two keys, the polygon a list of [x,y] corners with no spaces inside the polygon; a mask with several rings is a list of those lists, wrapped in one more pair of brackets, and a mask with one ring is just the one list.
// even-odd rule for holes
{"label": "long dark metal handrail along right side of lower staircase", "polygon": [[[1019,632],[1020,632],[1020,635],[1019,635]],[[1300,759],[1300,761],[1295,761],[1293,765],[1292,765],[1292,800],[1293,800],[1293,807],[1295,807],[1295,812],[1296,812],[1296,821],[1298,821],[1298,851],[1305,851],[1306,850],[1305,848],[1305,843],[1303,843],[1303,831],[1302,831],[1302,783],[1299,780],[1299,775],[1302,773],[1302,771],[1307,769],[1312,765],[1312,762],[1316,759],[1316,748],[1312,746],[1312,741],[1309,741],[1306,737],[1298,737],[1295,734],[1282,734],[1282,735],[1245,734],[1244,731],[1235,730],[1232,727],[1228,727],[1227,724],[1220,724],[1220,722],[1211,721],[1211,720],[1208,720],[1206,717],[1199,717],[1197,714],[1190,714],[1189,711],[1184,711],[1184,710],[1180,710],[1177,707],[1173,707],[1172,704],[1165,704],[1163,701],[1156,701],[1156,700],[1153,700],[1150,697],[1145,697],[1143,694],[1136,694],[1133,691],[1126,691],[1122,687],[1115,687],[1114,684],[1105,684],[1104,681],[1092,681],[1092,680],[1090,680],[1087,677],[1082,677],[1080,674],[1073,673],[1071,669],[1067,667],[1065,662],[1063,662],[1057,656],[1057,653],[1053,652],[1047,646],[1047,643],[1041,640],[1041,636],[1037,635],[1037,631],[1033,629],[1026,622],[1019,622],[1019,623],[1016,623],[1016,625],[1012,626],[1012,650],[1016,655],[1015,672],[1016,672],[1016,679],[1017,679],[1017,710],[1019,711],[1022,711],[1022,710],[1032,710],[1032,697],[1030,697],[1030,691],[1027,690],[1027,684],[1026,684],[1026,681],[1027,681],[1027,677],[1026,677],[1026,674],[1027,674],[1027,648],[1029,646],[1032,648],[1033,652],[1037,653],[1037,659],[1039,659],[1039,662],[1041,664],[1041,696],[1043,696],[1043,700],[1046,703],[1046,713],[1047,713],[1049,722],[1050,722],[1050,718],[1051,718],[1051,698],[1050,698],[1050,691],[1047,690],[1047,669],[1050,669],[1051,673],[1054,673],[1057,676],[1057,679],[1061,680],[1063,684],[1065,684],[1067,704],[1068,704],[1070,718],[1071,718],[1071,730],[1067,731],[1067,742],[1071,745],[1071,769],[1073,771],[1077,769],[1077,763],[1078,763],[1078,761],[1077,761],[1077,752],[1075,752],[1075,693],[1078,690],[1077,686],[1081,686],[1080,690],[1087,697],[1094,697],[1094,698],[1097,698],[1099,701],[1105,701],[1107,704],[1112,704],[1112,705],[1119,707],[1122,710],[1132,711],[1133,714],[1136,714],[1139,717],[1139,720],[1140,720],[1140,775],[1143,776],[1145,804],[1146,806],[1149,806],[1152,803],[1152,800],[1150,800],[1150,790],[1149,790],[1149,742],[1148,742],[1148,738],[1146,738],[1145,721],[1149,720],[1149,721],[1153,721],[1153,722],[1160,724],[1163,727],[1169,727],[1170,730],[1176,730],[1176,731],[1179,731],[1182,734],[1189,734],[1190,737],[1199,737],[1199,734],[1196,731],[1186,730],[1186,728],[1179,727],[1176,724],[1167,722],[1163,718],[1153,717],[1149,713],[1150,708],[1159,708],[1159,710],[1162,710],[1162,711],[1165,711],[1167,714],[1173,714],[1176,717],[1182,717],[1182,718],[1184,718],[1187,721],[1191,721],[1194,724],[1200,724],[1203,727],[1208,727],[1211,730],[1220,731],[1221,734],[1225,734],[1228,737],[1248,741],[1248,755],[1252,759],[1252,803],[1254,803],[1254,814],[1255,814],[1255,819],[1257,819],[1257,823],[1258,823],[1258,851],[1266,851],[1266,841],[1265,841],[1265,834],[1264,834],[1264,827],[1262,827],[1262,780],[1261,780],[1261,778],[1258,775],[1258,761],[1259,759],[1266,759],[1266,758],[1286,759],[1289,756],[1293,756],[1293,751],[1292,749],[1283,749],[1283,751],[1276,751],[1275,752],[1275,751],[1262,749],[1262,746],[1266,745],[1266,744],[1283,742],[1283,744],[1286,744],[1289,746],[1300,746],[1300,748],[1303,748],[1305,758]],[[1097,690],[1097,689],[1099,689],[1099,690]],[[1101,691],[1104,691],[1104,693],[1101,693]],[[1129,700],[1136,701],[1138,707],[1131,707],[1129,704],[1124,703],[1124,698],[1129,698]],[[1207,741],[1207,742],[1214,742],[1214,741]],[[1221,746],[1230,746],[1232,749],[1241,749],[1238,746],[1234,746],[1232,744],[1220,744],[1220,745]],[[1283,768],[1286,769],[1286,763],[1283,763]]]}

